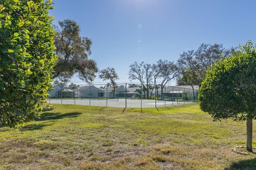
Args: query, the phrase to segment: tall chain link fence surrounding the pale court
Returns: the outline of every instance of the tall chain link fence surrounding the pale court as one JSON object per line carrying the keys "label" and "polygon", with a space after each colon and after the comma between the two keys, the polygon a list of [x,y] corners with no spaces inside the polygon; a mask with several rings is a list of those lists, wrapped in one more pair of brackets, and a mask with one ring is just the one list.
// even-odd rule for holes
{"label": "tall chain link fence surrounding the pale court", "polygon": [[105,107],[164,107],[197,102],[198,86],[118,83],[53,86],[47,103]]}

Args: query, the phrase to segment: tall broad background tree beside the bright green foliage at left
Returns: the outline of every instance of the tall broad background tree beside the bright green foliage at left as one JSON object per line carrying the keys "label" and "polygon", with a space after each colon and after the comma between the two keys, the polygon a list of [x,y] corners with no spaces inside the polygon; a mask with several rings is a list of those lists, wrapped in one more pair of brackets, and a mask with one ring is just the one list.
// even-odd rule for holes
{"label": "tall broad background tree beside the bright green foliage at left", "polygon": [[92,82],[98,72],[95,61],[88,58],[92,40],[81,37],[79,25],[69,19],[60,21],[55,31],[55,53],[59,58],[54,66],[54,78],[67,82],[74,74],[78,74],[81,80]]}

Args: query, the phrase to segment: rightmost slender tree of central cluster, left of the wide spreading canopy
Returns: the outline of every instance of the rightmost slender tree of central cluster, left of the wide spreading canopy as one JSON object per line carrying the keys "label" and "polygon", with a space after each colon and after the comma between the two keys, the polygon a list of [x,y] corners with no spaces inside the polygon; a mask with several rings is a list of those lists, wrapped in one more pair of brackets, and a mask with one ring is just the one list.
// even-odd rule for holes
{"label": "rightmost slender tree of central cluster, left of the wide spreading canopy", "polygon": [[163,94],[163,89],[167,82],[173,80],[178,75],[178,67],[174,64],[174,62],[170,62],[167,60],[159,60],[160,67],[160,77],[162,78],[161,82],[161,95]]}

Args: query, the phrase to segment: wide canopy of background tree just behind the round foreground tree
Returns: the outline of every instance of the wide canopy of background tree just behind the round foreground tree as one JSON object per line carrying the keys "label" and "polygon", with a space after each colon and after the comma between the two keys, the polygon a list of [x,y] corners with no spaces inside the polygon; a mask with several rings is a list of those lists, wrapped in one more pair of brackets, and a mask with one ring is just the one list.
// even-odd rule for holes
{"label": "wide canopy of background tree just behind the round foreground tree", "polygon": [[180,54],[178,60],[179,85],[199,85],[205,79],[208,67],[231,55],[233,49],[225,49],[222,44],[201,44],[197,50]]}

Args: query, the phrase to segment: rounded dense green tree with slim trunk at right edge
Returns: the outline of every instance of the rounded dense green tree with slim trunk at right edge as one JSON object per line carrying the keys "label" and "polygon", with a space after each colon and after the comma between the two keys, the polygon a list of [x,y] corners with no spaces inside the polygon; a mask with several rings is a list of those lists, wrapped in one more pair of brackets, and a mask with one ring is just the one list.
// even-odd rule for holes
{"label": "rounded dense green tree with slim trunk at right edge", "polygon": [[214,64],[199,89],[199,105],[214,121],[245,121],[246,148],[252,151],[252,120],[256,118],[256,50],[251,41]]}

